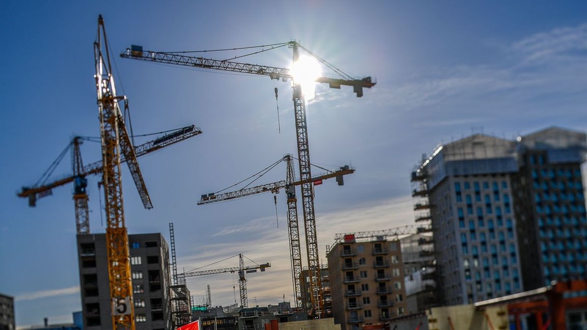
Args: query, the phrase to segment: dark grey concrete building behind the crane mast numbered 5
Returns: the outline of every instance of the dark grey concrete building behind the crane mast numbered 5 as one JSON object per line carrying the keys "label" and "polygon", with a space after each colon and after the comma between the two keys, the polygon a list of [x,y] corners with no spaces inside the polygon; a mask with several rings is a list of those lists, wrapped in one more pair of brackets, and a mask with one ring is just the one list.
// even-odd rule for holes
{"label": "dark grey concrete building behind the crane mast numbered 5", "polygon": [[[172,329],[167,242],[159,233],[136,234],[129,247],[136,328]],[[106,235],[77,235],[77,251],[84,329],[112,328]]]}

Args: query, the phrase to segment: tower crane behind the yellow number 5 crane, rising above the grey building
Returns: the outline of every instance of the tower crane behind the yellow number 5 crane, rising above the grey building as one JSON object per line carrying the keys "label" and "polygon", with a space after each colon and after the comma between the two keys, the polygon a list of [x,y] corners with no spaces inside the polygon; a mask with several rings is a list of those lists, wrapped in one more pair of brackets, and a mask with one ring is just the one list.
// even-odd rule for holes
{"label": "tower crane behind the yellow number 5 crane, rising above the grey building", "polygon": [[[194,125],[182,127],[180,129],[171,130],[167,134],[157,137],[157,139],[151,140],[147,143],[140,144],[134,147],[134,153],[136,157],[144,156],[153,151],[163,149],[164,147],[171,146],[177,142],[189,139],[190,137],[201,134],[202,131]],[[28,198],[29,206],[36,206],[36,200],[41,197],[45,197],[51,194],[52,189],[64,186],[70,182],[73,182],[73,201],[75,204],[75,219],[77,234],[89,234],[90,223],[89,223],[89,208],[87,205],[88,197],[86,193],[87,179],[86,176],[90,174],[102,174],[102,161],[95,161],[94,163],[83,165],[82,153],[80,152],[80,144],[83,140],[88,138],[82,136],[75,136],[68,144],[65,150],[59,155],[53,164],[49,167],[45,174],[37,181],[32,187],[22,187],[22,190],[18,193],[19,197]],[[59,164],[59,161],[65,156],[65,151],[72,149],[72,173],[67,174],[63,177],[48,179],[52,171]],[[120,162],[124,163],[126,158],[124,154],[121,156]]]}

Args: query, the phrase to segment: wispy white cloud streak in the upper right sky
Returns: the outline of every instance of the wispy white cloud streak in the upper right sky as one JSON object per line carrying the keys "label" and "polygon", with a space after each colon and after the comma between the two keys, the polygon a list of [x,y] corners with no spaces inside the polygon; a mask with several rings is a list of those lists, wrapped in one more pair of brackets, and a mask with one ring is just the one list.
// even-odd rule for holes
{"label": "wispy white cloud streak in the upper right sky", "polygon": [[468,106],[491,105],[495,111],[511,112],[541,96],[585,90],[587,23],[536,33],[500,51],[494,60],[479,65],[423,68],[401,83],[378,86],[367,102],[393,107],[394,113],[438,107],[443,109],[440,115],[455,117],[452,111],[462,113]]}

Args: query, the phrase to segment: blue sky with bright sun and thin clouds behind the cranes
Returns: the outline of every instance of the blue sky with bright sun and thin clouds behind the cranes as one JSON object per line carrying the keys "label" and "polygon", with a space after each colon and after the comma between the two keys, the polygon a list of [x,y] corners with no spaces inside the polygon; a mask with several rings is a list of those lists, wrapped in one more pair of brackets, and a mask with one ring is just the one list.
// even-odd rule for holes
{"label": "blue sky with bright sun and thin clouds behind the cranes", "polygon": [[[0,292],[16,297],[19,326],[65,322],[79,310],[72,187],[29,208],[16,197],[74,134],[97,136],[93,41],[103,14],[115,55],[151,50],[234,48],[299,40],[377,85],[318,86],[307,106],[311,160],[352,164],[345,186],[316,187],[321,258],[335,233],[413,223],[409,174],[421,154],[471,132],[514,137],[557,125],[587,127],[587,4],[581,1],[255,1],[174,4],[127,1],[0,2]],[[249,59],[287,66],[286,48]],[[249,301],[292,299],[285,200],[279,228],[269,194],[196,206],[220,190],[296,153],[290,89],[274,82],[116,58],[119,94],[130,100],[135,133],[195,124],[203,134],[140,159],[153,200],[144,210],[126,169],[130,233],[176,228],[180,268],[244,253],[272,268],[249,277]],[[144,140],[137,140],[144,142]],[[99,147],[83,145],[84,161]],[[70,171],[69,156],[56,170]],[[89,178],[90,228],[103,233],[97,177]],[[285,167],[264,178],[285,179]],[[305,261],[304,261],[305,262]],[[232,261],[236,265],[236,261]],[[219,267],[233,265],[219,264]],[[215,305],[234,302],[231,275],[192,278]]]}

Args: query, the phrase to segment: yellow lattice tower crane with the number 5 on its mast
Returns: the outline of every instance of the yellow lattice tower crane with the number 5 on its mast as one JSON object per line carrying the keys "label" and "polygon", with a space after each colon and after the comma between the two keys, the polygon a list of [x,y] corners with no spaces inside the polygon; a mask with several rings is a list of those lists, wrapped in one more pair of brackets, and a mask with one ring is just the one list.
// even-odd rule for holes
{"label": "yellow lattice tower crane with the number 5 on its mast", "polygon": [[102,142],[102,184],[106,211],[106,250],[112,303],[112,326],[135,329],[132,282],[130,279],[129,237],[124,223],[122,198],[121,153],[129,166],[134,184],[145,208],[152,208],[141,174],[136,153],[126,131],[120,102],[128,109],[126,96],[117,96],[110,64],[110,49],[102,15],[98,16],[97,38],[94,42],[96,92]]}

